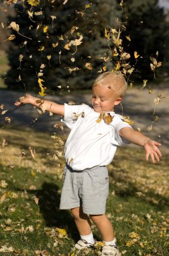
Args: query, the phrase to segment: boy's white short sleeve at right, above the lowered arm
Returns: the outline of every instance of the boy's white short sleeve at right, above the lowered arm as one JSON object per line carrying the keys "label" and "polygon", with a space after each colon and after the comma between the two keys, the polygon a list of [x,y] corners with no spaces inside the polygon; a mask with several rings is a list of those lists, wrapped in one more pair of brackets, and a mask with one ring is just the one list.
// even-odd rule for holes
{"label": "boy's white short sleeve at right, above the lowered arm", "polygon": [[121,115],[115,115],[111,125],[113,125],[113,127],[115,128],[114,142],[117,143],[116,145],[123,146],[125,144],[129,144],[130,141],[121,137],[119,135],[119,131],[123,128],[133,129],[131,125],[126,123]]}

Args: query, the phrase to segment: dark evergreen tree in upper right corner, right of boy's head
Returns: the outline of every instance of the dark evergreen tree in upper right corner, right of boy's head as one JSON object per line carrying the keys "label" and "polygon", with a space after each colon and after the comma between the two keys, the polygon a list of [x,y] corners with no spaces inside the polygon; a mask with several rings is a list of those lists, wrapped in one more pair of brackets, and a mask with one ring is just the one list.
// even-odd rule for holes
{"label": "dark evergreen tree in upper right corner, right of boy's head", "polygon": [[[153,79],[154,73],[150,71],[150,57],[156,57],[156,53],[159,52],[158,61],[163,62],[166,55],[165,44],[168,44],[166,37],[168,25],[165,22],[164,9],[158,5],[158,0],[126,0],[123,2],[121,21],[124,24],[127,22],[125,34],[123,34],[123,45],[131,54],[131,63],[135,63],[134,51],[139,54],[137,65],[135,65],[137,71],[135,77]],[[130,36],[130,43],[125,36]],[[164,67],[160,68],[159,72],[162,75]]]}

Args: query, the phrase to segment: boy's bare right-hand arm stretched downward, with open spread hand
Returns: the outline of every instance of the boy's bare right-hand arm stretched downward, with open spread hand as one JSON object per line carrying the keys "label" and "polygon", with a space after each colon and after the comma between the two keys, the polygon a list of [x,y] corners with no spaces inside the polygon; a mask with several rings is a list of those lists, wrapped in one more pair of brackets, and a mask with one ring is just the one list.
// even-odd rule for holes
{"label": "boy's bare right-hand arm stretched downward, with open spread hand", "polygon": [[158,149],[158,146],[161,146],[161,143],[146,137],[139,131],[134,131],[133,129],[127,127],[121,129],[119,131],[119,135],[131,141],[131,143],[144,147],[146,150],[146,160],[148,160],[149,156],[151,156],[152,162],[155,162],[155,159],[160,161],[160,156],[162,156],[162,154]]}

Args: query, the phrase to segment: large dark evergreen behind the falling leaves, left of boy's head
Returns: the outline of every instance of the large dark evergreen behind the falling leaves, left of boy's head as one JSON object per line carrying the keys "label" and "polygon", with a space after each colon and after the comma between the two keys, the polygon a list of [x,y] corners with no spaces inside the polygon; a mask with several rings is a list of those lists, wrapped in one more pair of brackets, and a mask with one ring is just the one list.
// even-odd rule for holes
{"label": "large dark evergreen behind the falling leaves, left of boy's head", "polygon": [[[91,86],[91,80],[103,67],[104,60],[98,57],[109,55],[104,27],[115,21],[116,5],[112,0],[93,1],[93,4],[77,0],[65,5],[62,1],[45,4],[41,1],[32,8],[26,2],[15,5],[15,19],[9,17],[9,24],[18,24],[23,36],[12,32],[16,38],[8,51],[11,67],[5,79],[8,88],[25,86],[26,90],[39,91],[38,77],[44,80],[43,86],[52,90],[60,85],[62,88]],[[80,38],[81,44],[70,45],[71,40]],[[66,44],[69,46],[65,49]]]}

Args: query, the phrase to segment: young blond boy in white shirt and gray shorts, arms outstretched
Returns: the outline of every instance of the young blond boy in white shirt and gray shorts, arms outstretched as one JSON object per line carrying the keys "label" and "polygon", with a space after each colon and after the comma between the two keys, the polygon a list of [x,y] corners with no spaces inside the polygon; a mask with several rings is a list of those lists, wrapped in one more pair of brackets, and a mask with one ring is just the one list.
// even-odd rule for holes
{"label": "young blond boy in white shirt and gray shorts, arms outstretched", "polygon": [[[80,240],[76,249],[92,248],[95,244],[91,231],[91,220],[96,224],[105,245],[102,255],[119,256],[111,222],[105,215],[109,190],[107,164],[115,155],[117,146],[135,143],[146,150],[152,162],[160,160],[160,143],[134,131],[114,112],[127,89],[120,72],[106,72],[95,80],[92,106],[86,104],[57,104],[26,95],[15,102],[32,104],[45,108],[54,114],[64,116],[64,123],[71,129],[65,145],[66,166],[60,209],[71,209]],[[90,218],[89,218],[90,217]]]}

